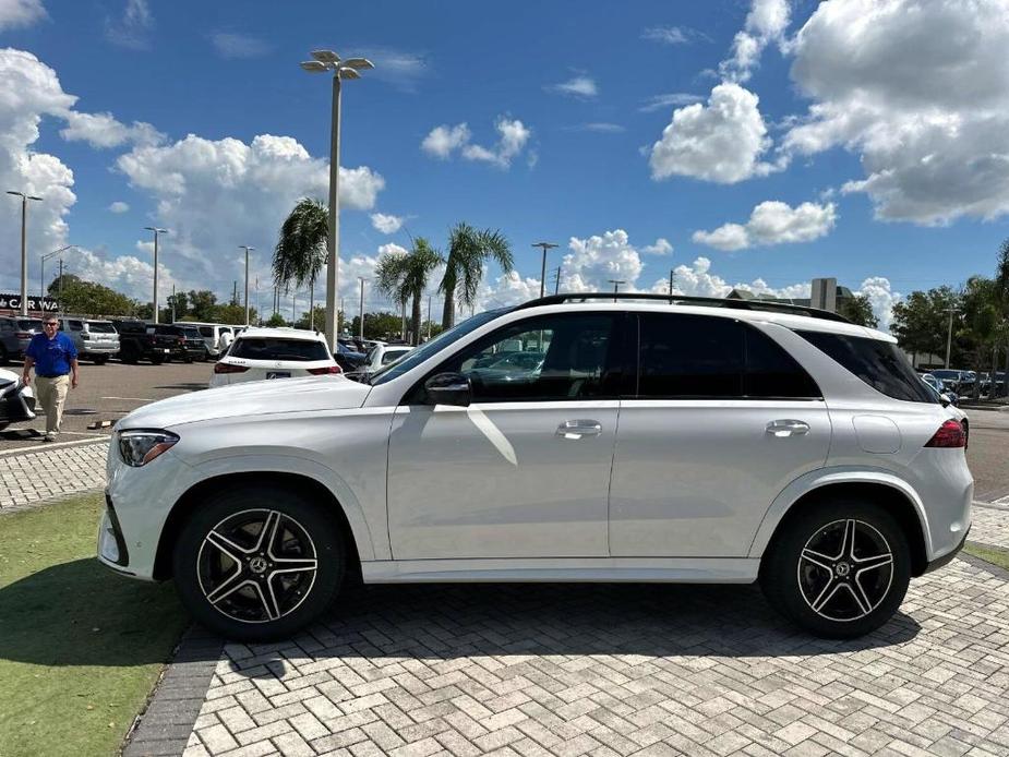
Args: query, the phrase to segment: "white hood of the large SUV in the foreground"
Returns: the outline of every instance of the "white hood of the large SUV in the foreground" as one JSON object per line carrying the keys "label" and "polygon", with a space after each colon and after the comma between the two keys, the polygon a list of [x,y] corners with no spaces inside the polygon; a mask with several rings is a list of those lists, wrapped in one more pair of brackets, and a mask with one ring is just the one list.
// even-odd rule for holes
{"label": "white hood of the large SUV in the foreground", "polygon": [[119,429],[170,429],[183,423],[238,416],[345,410],[364,404],[371,387],[343,376],[276,378],[203,389],[145,405],[117,423]]}

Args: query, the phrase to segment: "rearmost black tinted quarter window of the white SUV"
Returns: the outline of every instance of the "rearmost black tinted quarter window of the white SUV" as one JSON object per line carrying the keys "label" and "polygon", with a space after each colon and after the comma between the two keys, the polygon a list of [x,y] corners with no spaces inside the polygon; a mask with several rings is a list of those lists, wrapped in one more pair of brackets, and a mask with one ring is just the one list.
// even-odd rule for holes
{"label": "rearmost black tinted quarter window of the white SUV", "polygon": [[893,343],[821,332],[797,334],[888,397],[909,402],[938,401]]}

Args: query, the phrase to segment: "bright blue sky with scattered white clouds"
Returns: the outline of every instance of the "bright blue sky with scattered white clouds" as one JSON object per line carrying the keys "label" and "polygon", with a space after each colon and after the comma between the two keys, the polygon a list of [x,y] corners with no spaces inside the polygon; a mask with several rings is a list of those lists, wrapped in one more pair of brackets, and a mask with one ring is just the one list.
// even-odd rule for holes
{"label": "bright blue sky with scattered white clouds", "polygon": [[[332,48],[376,65],[345,84],[347,297],[408,233],[444,249],[466,220],[515,252],[483,305],[538,293],[545,239],[564,288],[836,276],[886,319],[990,274],[1009,237],[1007,19],[1001,0],[0,0],[0,180],[46,197],[33,291],[38,255],[74,243],[72,271],[149,299],[155,224],[169,288],[225,296],[252,244],[265,290],[280,220],[325,196],[329,83],[298,62]],[[19,212],[0,207],[4,290]]]}

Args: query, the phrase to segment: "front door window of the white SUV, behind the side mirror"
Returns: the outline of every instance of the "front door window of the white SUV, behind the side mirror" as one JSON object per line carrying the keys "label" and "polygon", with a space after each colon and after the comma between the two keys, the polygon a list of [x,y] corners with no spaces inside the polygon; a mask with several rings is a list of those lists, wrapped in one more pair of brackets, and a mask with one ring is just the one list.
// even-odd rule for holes
{"label": "front door window of the white SUV, behind the side mirror", "polygon": [[[613,397],[618,375],[615,319],[558,313],[504,326],[436,368],[468,376],[475,402]],[[422,384],[421,384],[422,386]],[[422,401],[423,392],[412,399]]]}

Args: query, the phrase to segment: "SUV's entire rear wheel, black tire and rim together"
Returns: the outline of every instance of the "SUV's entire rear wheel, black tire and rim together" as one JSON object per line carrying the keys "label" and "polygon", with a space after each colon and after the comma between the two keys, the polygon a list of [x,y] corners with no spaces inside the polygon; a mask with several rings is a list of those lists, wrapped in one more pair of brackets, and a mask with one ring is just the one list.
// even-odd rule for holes
{"label": "SUV's entire rear wheel, black tire and rim together", "polygon": [[897,520],[878,505],[849,498],[803,507],[760,565],[768,602],[801,628],[834,639],[884,625],[910,580],[911,550]]}

